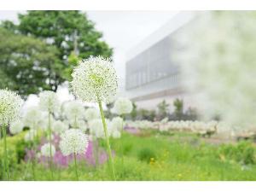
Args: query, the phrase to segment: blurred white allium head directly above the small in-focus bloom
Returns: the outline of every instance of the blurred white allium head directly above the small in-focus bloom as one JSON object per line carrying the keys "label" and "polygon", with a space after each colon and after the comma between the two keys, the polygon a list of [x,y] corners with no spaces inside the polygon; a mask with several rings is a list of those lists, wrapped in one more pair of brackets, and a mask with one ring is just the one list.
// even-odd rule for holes
{"label": "blurred white allium head directly above the small in-focus bloom", "polygon": [[64,112],[67,119],[83,119],[84,118],[84,107],[81,102],[73,101],[67,102],[64,108]]}

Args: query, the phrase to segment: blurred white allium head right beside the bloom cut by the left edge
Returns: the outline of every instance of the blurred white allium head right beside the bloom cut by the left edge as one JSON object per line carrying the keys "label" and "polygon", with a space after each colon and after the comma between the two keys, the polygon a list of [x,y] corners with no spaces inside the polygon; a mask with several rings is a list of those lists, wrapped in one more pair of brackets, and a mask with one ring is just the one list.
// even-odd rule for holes
{"label": "blurred white allium head right beside the bloom cut by the left edge", "polygon": [[38,107],[27,108],[26,113],[23,117],[24,125],[32,128],[38,129],[40,122],[44,119],[43,112]]}

